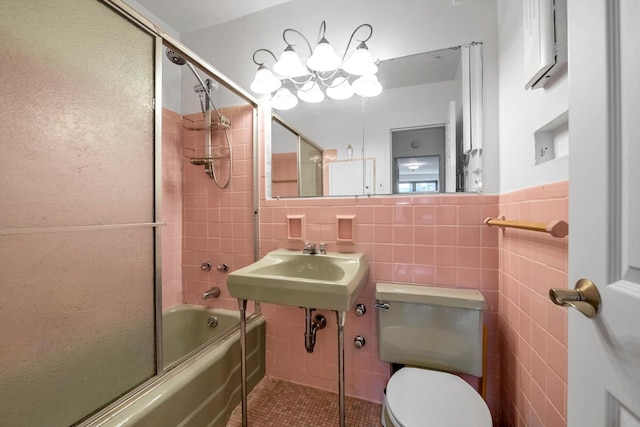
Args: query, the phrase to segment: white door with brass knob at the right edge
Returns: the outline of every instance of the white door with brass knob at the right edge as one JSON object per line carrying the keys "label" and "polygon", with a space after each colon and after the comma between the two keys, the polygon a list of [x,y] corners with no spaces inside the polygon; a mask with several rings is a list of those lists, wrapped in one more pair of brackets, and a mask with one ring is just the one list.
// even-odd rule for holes
{"label": "white door with brass knob at the right edge", "polygon": [[[569,427],[640,427],[640,0],[569,0]],[[551,427],[551,426],[549,426]]]}

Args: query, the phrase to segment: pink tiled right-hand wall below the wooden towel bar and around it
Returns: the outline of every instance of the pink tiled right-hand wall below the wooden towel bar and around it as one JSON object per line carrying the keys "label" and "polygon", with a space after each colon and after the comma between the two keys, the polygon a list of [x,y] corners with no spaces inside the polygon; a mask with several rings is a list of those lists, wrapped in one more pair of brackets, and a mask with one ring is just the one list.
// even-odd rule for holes
{"label": "pink tiled right-hand wall below the wooden towel bar and around it", "polygon": [[[500,215],[568,220],[568,182],[500,196]],[[500,408],[505,426],[566,426],[567,312],[549,288],[567,288],[568,237],[500,232]]]}

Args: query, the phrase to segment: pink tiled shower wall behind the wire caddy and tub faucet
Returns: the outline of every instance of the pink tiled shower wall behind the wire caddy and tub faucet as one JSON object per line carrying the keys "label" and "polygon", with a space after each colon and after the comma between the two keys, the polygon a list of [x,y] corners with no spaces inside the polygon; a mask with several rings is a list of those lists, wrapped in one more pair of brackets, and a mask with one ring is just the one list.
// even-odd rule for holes
{"label": "pink tiled shower wall behind the wire caddy and tub faucet", "polygon": [[[229,186],[218,188],[204,166],[192,165],[187,158],[183,160],[183,300],[237,310],[237,301],[227,290],[228,273],[217,271],[216,266],[227,264],[232,271],[253,262],[253,108],[248,105],[220,112],[231,119],[231,128],[226,131],[233,154]],[[202,114],[185,116],[185,120],[194,118],[201,119]],[[204,145],[204,132],[183,129],[187,155],[189,148]],[[225,132],[212,131],[212,145],[226,147]],[[218,181],[223,185],[227,182],[225,167],[227,162],[218,166]],[[211,263],[211,271],[200,269],[203,262]],[[202,299],[202,293],[213,286],[220,287],[220,297]]]}

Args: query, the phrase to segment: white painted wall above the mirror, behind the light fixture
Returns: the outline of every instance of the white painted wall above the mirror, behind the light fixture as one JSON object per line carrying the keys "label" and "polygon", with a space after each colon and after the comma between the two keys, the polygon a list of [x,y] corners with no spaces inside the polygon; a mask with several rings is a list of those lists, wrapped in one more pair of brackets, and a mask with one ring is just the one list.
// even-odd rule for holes
{"label": "white painted wall above the mirror, behind the light fixture", "polygon": [[[381,60],[483,42],[484,188],[487,193],[497,193],[497,0],[453,3],[451,0],[292,0],[225,24],[182,34],[181,41],[244,88],[249,87],[257,69],[252,61],[256,49],[270,49],[279,56],[285,47],[282,40],[285,28],[295,28],[313,42],[322,20],[327,22],[327,39],[339,51],[344,50],[358,25],[371,24],[374,33],[368,46],[374,57]],[[183,86],[183,111],[189,108],[197,111],[197,104],[188,105],[193,102],[192,81],[184,78]]]}

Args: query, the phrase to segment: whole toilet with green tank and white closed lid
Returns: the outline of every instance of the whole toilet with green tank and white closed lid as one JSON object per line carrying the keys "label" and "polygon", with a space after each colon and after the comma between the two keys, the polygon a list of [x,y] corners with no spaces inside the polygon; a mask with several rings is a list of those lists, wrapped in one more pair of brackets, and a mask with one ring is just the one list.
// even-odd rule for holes
{"label": "whole toilet with green tank and white closed lid", "polygon": [[491,427],[480,394],[453,373],[483,375],[482,294],[376,283],[378,357],[404,365],[383,401],[385,427]]}

